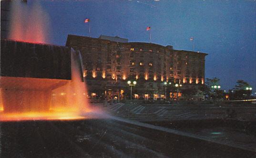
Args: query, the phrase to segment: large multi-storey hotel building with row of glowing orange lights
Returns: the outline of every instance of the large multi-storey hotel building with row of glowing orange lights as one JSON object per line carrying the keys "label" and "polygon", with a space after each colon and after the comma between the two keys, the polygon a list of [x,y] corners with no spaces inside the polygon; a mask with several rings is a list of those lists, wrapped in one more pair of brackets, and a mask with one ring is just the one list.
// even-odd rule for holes
{"label": "large multi-storey hotel building with row of glowing orange lights", "polygon": [[[137,82],[134,98],[165,98],[164,82],[182,84],[180,89],[205,83],[205,53],[107,36],[68,35],[66,46],[81,52],[89,94],[98,98],[107,94],[124,99],[130,93],[128,80]],[[175,92],[167,87],[166,97]]]}

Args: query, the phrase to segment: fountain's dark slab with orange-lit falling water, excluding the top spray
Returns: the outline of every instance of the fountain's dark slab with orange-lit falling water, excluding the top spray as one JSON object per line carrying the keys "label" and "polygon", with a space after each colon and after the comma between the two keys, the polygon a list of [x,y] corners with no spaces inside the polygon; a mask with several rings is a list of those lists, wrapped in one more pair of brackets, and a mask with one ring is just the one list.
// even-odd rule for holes
{"label": "fountain's dark slab with orange-lit falling water, excluding the top spray", "polygon": [[1,40],[1,121],[79,119],[90,112],[79,51]]}

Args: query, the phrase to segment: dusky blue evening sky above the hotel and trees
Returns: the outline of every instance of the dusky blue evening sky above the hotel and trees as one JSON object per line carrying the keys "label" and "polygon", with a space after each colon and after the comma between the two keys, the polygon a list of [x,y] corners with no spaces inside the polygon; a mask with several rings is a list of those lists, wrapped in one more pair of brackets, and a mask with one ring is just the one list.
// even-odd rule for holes
{"label": "dusky blue evening sky above the hotel and trees", "polygon": [[[43,0],[49,15],[50,43],[65,45],[68,34],[102,35],[152,42],[174,49],[208,53],[205,77],[221,79],[223,89],[237,79],[256,90],[255,0]],[[28,5],[30,2],[28,1]]]}

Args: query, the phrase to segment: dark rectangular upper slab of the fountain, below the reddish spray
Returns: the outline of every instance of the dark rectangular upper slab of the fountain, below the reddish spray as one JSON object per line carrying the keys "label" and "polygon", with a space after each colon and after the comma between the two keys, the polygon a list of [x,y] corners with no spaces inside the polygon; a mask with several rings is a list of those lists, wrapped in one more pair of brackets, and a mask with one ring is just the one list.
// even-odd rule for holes
{"label": "dark rectangular upper slab of the fountain, below the reddish spray", "polygon": [[1,40],[0,53],[0,76],[71,80],[68,47]]}

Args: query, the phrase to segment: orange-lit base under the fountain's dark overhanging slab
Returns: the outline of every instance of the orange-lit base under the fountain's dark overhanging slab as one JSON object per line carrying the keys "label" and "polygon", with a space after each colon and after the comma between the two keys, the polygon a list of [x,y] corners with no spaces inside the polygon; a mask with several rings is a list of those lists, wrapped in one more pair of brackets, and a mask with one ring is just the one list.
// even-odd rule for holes
{"label": "orange-lit base under the fountain's dark overhanging slab", "polygon": [[69,80],[31,77],[0,77],[4,112],[43,112],[51,105],[51,91]]}

